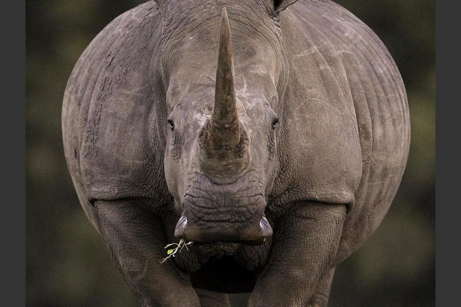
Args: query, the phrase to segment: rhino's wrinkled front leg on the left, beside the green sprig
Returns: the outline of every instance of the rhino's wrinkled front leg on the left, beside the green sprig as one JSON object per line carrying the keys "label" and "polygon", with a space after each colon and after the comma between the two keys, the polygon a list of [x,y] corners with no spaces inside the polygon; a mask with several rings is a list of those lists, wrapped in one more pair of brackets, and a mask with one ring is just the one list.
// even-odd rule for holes
{"label": "rhino's wrinkled front leg on the left, beside the green sprig", "polygon": [[143,307],[200,306],[190,281],[164,258],[160,220],[143,201],[97,201],[96,212],[112,259]]}

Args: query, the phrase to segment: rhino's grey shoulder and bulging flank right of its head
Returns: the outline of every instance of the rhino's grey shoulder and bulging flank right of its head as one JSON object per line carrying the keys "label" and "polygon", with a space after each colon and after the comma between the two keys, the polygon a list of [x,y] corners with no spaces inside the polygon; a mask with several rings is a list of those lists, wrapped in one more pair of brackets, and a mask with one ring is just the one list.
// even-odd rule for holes
{"label": "rhino's grey shoulder and bulging flank right of its head", "polygon": [[284,189],[296,191],[284,195],[319,199],[319,186],[352,196],[341,261],[378,227],[400,184],[410,146],[405,86],[383,42],[338,4],[298,1],[281,22],[291,76],[281,164],[294,178]]}

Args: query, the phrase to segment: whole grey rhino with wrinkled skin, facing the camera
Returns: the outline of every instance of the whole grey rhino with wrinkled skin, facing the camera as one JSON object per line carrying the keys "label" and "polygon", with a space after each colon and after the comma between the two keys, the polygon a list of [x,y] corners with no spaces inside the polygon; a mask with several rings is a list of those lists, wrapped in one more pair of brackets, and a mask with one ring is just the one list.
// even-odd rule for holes
{"label": "whole grey rhino with wrinkled skin, facing the camera", "polygon": [[[69,79],[64,148],[85,213],[142,306],[228,305],[210,290],[326,306],[406,165],[394,61],[331,1],[157,2],[103,29]],[[179,237],[196,243],[159,263]]]}

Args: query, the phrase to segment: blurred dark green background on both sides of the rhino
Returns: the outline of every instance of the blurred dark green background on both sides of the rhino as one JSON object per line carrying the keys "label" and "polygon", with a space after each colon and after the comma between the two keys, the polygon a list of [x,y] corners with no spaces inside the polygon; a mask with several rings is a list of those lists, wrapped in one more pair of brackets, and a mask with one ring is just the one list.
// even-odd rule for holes
{"label": "blurred dark green background on both sides of the rhino", "polygon": [[[86,219],[64,160],[61,103],[91,40],[142,0],[26,1],[26,302],[139,306]],[[435,1],[339,0],[383,40],[405,82],[410,158],[376,233],[336,269],[329,306],[435,306]]]}

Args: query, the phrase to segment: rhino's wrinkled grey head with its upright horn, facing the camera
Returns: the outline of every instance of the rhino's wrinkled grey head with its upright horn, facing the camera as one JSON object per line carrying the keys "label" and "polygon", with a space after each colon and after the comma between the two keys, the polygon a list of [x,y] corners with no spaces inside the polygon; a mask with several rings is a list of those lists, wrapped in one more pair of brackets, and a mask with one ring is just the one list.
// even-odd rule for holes
{"label": "rhino's wrinkled grey head with its upright horn, facing the camera", "polygon": [[175,236],[258,244],[275,178],[286,58],[278,13],[294,1],[158,3],[165,177]]}

